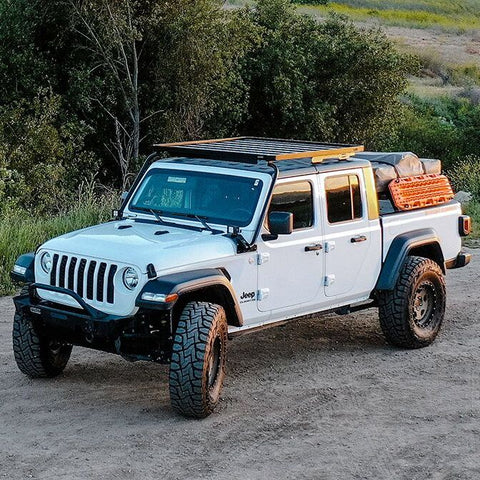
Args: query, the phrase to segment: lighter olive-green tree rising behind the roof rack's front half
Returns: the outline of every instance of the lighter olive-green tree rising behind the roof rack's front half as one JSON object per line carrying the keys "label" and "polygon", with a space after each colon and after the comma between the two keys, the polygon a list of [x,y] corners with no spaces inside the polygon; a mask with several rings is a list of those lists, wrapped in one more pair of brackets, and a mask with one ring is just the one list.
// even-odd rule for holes
{"label": "lighter olive-green tree rising behind the roof rack's front half", "polygon": [[258,42],[244,11],[212,0],[156,2],[148,77],[164,105],[157,140],[234,133],[247,114],[247,86],[238,65]]}

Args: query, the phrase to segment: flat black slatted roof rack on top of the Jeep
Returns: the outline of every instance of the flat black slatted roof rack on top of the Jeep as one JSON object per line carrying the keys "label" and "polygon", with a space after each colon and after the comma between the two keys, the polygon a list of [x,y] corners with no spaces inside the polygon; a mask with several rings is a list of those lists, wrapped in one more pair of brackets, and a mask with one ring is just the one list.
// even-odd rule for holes
{"label": "flat black slatted roof rack on top of the Jeep", "polygon": [[364,150],[363,145],[259,137],[162,143],[155,145],[155,147],[179,156],[253,164],[260,161],[277,162],[296,158],[311,158],[312,163],[321,163],[328,158],[344,160]]}

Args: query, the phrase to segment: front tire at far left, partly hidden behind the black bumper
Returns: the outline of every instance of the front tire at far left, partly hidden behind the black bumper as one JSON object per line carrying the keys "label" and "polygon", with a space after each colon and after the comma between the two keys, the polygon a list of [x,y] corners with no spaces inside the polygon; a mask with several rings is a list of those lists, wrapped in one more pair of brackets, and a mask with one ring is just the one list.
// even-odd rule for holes
{"label": "front tire at far left, partly hidden behind the black bumper", "polygon": [[[26,293],[22,290],[22,294]],[[39,336],[32,323],[16,312],[13,319],[13,353],[18,368],[31,378],[56,377],[67,366],[72,345]]]}

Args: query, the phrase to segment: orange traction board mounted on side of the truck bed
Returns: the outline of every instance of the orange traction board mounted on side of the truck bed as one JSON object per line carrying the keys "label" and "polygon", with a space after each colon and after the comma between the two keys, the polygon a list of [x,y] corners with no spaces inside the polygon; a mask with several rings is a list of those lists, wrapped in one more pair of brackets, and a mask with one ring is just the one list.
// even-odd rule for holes
{"label": "orange traction board mounted on side of the truck bed", "polygon": [[399,210],[431,207],[450,201],[453,190],[445,175],[429,174],[392,180],[388,188]]}

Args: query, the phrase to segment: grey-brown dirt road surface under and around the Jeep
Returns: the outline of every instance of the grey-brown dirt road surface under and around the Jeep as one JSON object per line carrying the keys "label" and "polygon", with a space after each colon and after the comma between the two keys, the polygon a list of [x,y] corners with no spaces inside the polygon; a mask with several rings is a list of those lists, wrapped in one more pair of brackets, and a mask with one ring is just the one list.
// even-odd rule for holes
{"label": "grey-brown dirt road surface under and around the Jeep", "polygon": [[373,310],[235,340],[203,421],[171,411],[163,366],[76,348],[63,376],[23,376],[0,299],[0,478],[478,479],[479,279],[477,250],[423,350],[385,345]]}

